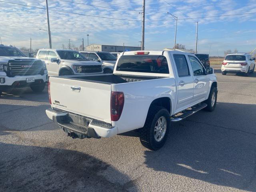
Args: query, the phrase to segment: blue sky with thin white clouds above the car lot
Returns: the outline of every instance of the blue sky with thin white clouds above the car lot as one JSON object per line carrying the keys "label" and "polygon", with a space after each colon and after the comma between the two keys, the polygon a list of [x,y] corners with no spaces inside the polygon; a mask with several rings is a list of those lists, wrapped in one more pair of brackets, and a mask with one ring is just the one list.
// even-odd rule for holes
{"label": "blue sky with thin white clouds above the car lot", "polygon": [[[6,1],[45,7],[44,0]],[[141,10],[142,0],[67,1],[82,4],[48,0],[48,6],[54,10],[124,20],[50,10],[53,48],[61,48],[62,44],[67,47],[68,39],[74,46],[79,46],[82,38],[87,44],[86,34],[89,34],[89,44],[122,45],[123,42],[127,46],[140,44],[141,22],[139,21],[142,20],[142,16],[138,12]],[[165,1],[146,0],[145,49],[147,50],[173,47],[175,21],[166,12],[174,14],[178,19],[256,12],[256,0]],[[0,18],[0,36],[3,44],[29,47],[31,37],[33,49],[48,47],[47,32],[39,30],[39,28],[47,30],[45,10],[0,2]],[[198,52],[200,53],[210,51],[211,56],[223,56],[224,51],[228,49],[236,48],[239,52],[250,52],[256,47],[256,14],[178,20],[176,42],[184,44],[188,49],[195,49],[196,21],[198,21]]]}

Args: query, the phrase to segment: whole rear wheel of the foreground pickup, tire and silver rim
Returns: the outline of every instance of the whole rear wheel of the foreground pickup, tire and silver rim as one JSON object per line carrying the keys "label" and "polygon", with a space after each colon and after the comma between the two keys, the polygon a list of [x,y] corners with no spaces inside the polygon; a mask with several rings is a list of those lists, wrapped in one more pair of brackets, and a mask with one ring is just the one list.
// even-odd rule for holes
{"label": "whole rear wheel of the foreground pickup, tire and silver rim", "polygon": [[170,114],[168,110],[160,106],[151,106],[145,125],[140,129],[140,142],[150,150],[158,150],[166,142],[169,129]]}

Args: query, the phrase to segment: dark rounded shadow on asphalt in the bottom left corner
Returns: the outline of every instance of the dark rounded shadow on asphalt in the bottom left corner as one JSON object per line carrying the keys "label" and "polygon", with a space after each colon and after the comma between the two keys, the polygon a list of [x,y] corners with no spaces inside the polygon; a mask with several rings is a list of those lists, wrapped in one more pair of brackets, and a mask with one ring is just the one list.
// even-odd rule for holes
{"label": "dark rounded shadow on asphalt in the bottom left corner", "polygon": [[[60,144],[61,146],[61,144]],[[79,192],[125,191],[126,186],[109,181],[104,172],[112,170],[113,178],[128,176],[88,154],[62,149],[60,146],[38,147],[0,142],[0,191]]]}

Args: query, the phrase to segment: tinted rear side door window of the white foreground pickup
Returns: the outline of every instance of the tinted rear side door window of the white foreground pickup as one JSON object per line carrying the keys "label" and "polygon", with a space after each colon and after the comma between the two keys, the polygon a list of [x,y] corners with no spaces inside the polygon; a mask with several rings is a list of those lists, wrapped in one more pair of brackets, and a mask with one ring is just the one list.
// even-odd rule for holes
{"label": "tinted rear side door window of the white foreground pickup", "polygon": [[176,68],[178,71],[178,76],[179,77],[190,76],[189,70],[188,70],[188,62],[186,60],[185,55],[174,54],[173,58],[174,58]]}

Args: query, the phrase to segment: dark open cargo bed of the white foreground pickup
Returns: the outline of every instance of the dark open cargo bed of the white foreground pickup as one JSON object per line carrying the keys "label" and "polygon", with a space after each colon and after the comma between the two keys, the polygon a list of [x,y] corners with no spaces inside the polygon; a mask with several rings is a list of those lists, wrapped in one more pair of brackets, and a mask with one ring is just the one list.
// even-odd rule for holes
{"label": "dark open cargo bed of the white foreground pickup", "polygon": [[98,82],[103,84],[120,84],[120,83],[127,83],[127,82],[151,80],[151,79],[157,79],[162,77],[145,77],[145,76],[142,77],[142,76],[103,74],[103,75],[93,75],[93,76],[72,76],[72,77],[60,76],[59,78],[80,80],[80,81],[86,81],[86,82]]}

